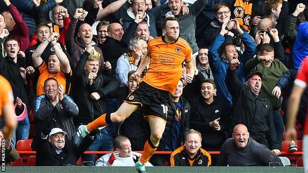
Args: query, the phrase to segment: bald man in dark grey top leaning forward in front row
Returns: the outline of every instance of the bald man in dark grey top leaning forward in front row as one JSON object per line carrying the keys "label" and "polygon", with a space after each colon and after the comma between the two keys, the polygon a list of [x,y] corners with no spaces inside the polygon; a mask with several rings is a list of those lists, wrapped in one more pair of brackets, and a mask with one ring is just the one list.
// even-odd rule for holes
{"label": "bald man in dark grey top leaning forward in front row", "polygon": [[238,124],[234,127],[232,138],[227,139],[220,149],[216,166],[269,166],[281,160],[265,145],[249,138],[247,127]]}

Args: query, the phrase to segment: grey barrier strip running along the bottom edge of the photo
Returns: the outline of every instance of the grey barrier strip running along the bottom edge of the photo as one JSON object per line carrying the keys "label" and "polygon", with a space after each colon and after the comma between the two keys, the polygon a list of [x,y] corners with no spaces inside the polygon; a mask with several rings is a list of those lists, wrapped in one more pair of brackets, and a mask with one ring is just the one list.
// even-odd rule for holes
{"label": "grey barrier strip running along the bottom edge of the photo", "polygon": [[[147,173],[304,173],[303,167],[147,167]],[[7,173],[137,173],[134,167],[6,167]]]}

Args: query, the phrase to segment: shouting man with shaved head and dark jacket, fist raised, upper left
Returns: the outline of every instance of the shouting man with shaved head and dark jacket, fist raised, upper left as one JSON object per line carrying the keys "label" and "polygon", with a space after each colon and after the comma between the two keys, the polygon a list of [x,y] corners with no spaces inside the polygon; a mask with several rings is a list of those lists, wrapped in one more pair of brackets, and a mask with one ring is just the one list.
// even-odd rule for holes
{"label": "shouting man with shaved head and dark jacket, fist raised, upper left", "polygon": [[[101,49],[97,47],[98,41],[97,38],[93,37],[91,26],[87,23],[81,24],[80,27],[78,28],[77,36],[74,37],[77,20],[80,17],[83,17],[82,15],[86,15],[86,11],[83,10],[82,8],[77,8],[65,37],[67,50],[72,57],[72,62],[71,62],[72,68],[75,69],[80,56],[83,54],[85,48],[88,45],[94,47],[94,49],[92,49],[91,54],[94,54],[100,58],[100,67],[101,67],[103,64],[105,64],[104,58]],[[107,62],[106,62],[106,69],[111,69],[110,64]]]}

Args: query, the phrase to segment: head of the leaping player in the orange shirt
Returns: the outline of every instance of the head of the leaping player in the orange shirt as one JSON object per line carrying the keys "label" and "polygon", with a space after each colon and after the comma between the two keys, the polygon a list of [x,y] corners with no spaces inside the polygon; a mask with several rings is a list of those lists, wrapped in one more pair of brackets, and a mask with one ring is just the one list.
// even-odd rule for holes
{"label": "head of the leaping player in the orange shirt", "polygon": [[167,21],[165,29],[163,29],[165,37],[170,41],[176,41],[180,35],[180,26],[178,21]]}

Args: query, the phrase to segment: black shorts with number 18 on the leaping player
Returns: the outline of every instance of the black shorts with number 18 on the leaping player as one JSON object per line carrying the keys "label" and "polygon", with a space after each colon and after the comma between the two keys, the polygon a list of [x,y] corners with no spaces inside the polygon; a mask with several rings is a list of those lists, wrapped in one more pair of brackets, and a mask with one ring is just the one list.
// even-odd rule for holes
{"label": "black shorts with number 18 on the leaping player", "polygon": [[167,120],[169,92],[154,88],[141,82],[137,89],[130,93],[124,102],[143,106],[144,116],[154,116]]}

